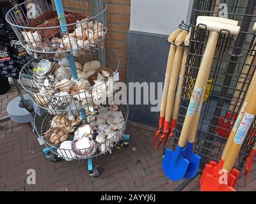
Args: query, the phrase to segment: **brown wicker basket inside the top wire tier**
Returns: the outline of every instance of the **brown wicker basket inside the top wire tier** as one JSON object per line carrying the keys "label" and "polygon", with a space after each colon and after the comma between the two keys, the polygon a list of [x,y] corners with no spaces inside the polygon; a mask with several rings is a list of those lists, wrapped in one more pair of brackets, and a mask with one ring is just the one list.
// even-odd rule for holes
{"label": "brown wicker basket inside the top wire tier", "polygon": [[[80,13],[73,13],[65,11],[67,24],[74,24],[78,21],[83,20],[86,16]],[[44,27],[60,26],[58,15],[56,11],[45,11],[42,15],[39,15],[35,19],[31,20],[26,27],[42,27],[42,29],[26,29],[25,31],[31,31],[31,33],[37,31],[43,41],[51,40],[51,38],[60,38],[60,27],[44,29]],[[68,26],[68,33],[73,33],[76,25]]]}

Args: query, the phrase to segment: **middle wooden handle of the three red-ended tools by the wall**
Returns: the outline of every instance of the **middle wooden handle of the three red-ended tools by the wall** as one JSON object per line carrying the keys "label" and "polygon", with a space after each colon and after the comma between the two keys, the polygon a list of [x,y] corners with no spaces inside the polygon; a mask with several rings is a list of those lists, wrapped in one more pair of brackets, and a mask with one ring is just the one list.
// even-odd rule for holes
{"label": "middle wooden handle of the three red-ended tools by the wall", "polygon": [[165,120],[170,121],[172,117],[172,108],[175,96],[176,85],[178,81],[179,71],[180,71],[180,62],[182,58],[182,46],[178,46],[175,52],[175,57],[173,61],[173,69],[170,78],[170,85],[167,97],[167,104],[166,104],[166,112],[165,112]]}

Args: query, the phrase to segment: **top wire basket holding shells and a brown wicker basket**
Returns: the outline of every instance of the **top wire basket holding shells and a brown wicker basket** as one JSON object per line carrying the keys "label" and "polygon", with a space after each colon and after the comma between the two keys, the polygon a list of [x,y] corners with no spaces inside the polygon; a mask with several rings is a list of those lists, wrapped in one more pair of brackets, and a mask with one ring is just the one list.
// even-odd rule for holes
{"label": "top wire basket holding shells and a brown wicker basket", "polygon": [[61,59],[68,52],[79,57],[81,49],[87,51],[96,44],[104,46],[107,33],[106,1],[64,1],[63,6],[68,29],[66,33],[61,32],[65,26],[60,25],[54,5],[49,6],[46,0],[40,0],[38,4],[26,1],[6,14],[6,20],[20,44],[35,58]]}

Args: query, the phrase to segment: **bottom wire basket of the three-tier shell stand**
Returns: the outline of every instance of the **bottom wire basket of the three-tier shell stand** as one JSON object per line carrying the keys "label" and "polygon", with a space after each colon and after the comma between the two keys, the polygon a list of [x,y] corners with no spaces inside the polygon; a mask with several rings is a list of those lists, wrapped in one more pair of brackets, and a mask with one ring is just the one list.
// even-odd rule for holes
{"label": "bottom wire basket of the three-tier shell stand", "polygon": [[[104,106],[105,108],[109,106]],[[99,106],[97,108],[94,108],[93,111],[97,112]],[[62,157],[63,159],[67,161],[71,161],[74,159],[88,159],[90,157],[97,157],[101,154],[106,154],[108,152],[111,153],[111,149],[115,147],[115,145],[120,142],[122,139],[122,136],[124,135],[125,128],[127,125],[127,118],[129,115],[129,109],[127,105],[118,105],[118,112],[122,112],[122,116],[124,117],[124,122],[122,123],[122,126],[118,128],[118,130],[115,130],[111,136],[106,137],[106,139],[102,142],[99,142],[97,140],[97,135],[99,135],[99,129],[95,129],[92,133],[92,136],[88,140],[90,140],[90,147],[88,148],[74,148],[73,143],[77,141],[74,140],[74,132],[79,129],[81,126],[76,126],[74,128],[74,131],[72,133],[68,134],[67,140],[65,142],[70,143],[69,147],[63,148],[61,145],[52,145],[50,142],[45,140],[45,133],[51,128],[51,122],[54,118],[53,115],[50,113],[47,113],[45,111],[42,112],[42,110],[38,110],[38,113],[35,115],[35,130],[37,135],[44,141],[44,145],[48,147],[49,150],[51,150],[52,153],[56,154],[59,157]],[[61,113],[61,115],[65,115],[65,113]],[[97,115],[96,115],[97,117]],[[97,121],[97,120],[96,120]],[[89,122],[89,124],[92,124]],[[98,142],[97,142],[98,141]],[[71,145],[72,143],[72,145]]]}

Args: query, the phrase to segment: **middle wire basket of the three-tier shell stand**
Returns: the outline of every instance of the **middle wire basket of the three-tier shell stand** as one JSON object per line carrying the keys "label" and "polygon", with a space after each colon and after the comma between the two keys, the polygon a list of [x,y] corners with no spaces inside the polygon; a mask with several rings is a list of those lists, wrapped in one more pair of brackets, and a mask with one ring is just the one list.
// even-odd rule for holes
{"label": "middle wire basket of the three-tier shell stand", "polygon": [[[101,68],[97,69],[97,72],[106,71],[105,74],[109,74],[108,77],[106,77],[106,75],[105,77],[100,75],[100,77],[103,78],[100,78],[99,80],[93,80],[94,78],[92,79],[88,77],[88,75],[88,80],[83,80],[82,78],[79,81],[66,80],[64,78],[56,84],[56,78],[58,78],[58,72],[56,73],[56,70],[58,71],[58,69],[63,69],[62,71],[65,73],[64,76],[69,73],[69,77],[71,78],[69,69],[60,67],[55,70],[55,75],[54,71],[52,71],[52,73],[50,71],[50,73],[47,73],[46,76],[43,76],[44,79],[39,79],[40,82],[38,82],[38,76],[36,77],[35,73],[35,70],[37,70],[38,67],[36,66],[38,61],[33,59],[32,61],[28,62],[28,64],[26,64],[20,71],[20,84],[29,93],[31,99],[33,99],[33,101],[38,106],[40,106],[40,108],[49,110],[49,113],[51,114],[58,114],[58,112],[61,111],[76,112],[77,110],[80,110],[80,108],[85,108],[89,105],[99,105],[99,103],[104,103],[110,96],[113,96],[115,92],[115,75],[118,75],[119,57],[111,49],[100,50],[97,48],[96,51],[97,52],[88,52],[85,55],[76,57],[75,61],[76,63],[79,62],[79,64],[82,66],[83,64],[85,66],[86,63],[90,63],[92,61],[98,62]],[[104,51],[106,51],[107,62],[105,62],[106,59]],[[51,64],[52,69],[54,69],[54,66],[58,66],[56,65],[56,62],[54,63],[55,65]],[[85,73],[85,75],[88,73],[89,71]],[[60,76],[62,77],[63,75]],[[83,77],[83,72],[81,73],[81,76]],[[46,83],[48,83],[48,78],[52,80],[52,84],[46,84],[45,89],[45,80],[47,79]],[[63,81],[69,83],[68,90],[64,90],[66,89],[65,86],[61,89],[57,89],[58,83],[60,84]],[[86,84],[86,87],[82,86],[83,89],[79,88],[79,83],[81,81]]]}

